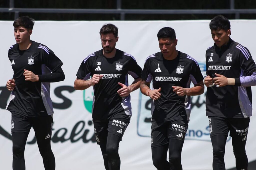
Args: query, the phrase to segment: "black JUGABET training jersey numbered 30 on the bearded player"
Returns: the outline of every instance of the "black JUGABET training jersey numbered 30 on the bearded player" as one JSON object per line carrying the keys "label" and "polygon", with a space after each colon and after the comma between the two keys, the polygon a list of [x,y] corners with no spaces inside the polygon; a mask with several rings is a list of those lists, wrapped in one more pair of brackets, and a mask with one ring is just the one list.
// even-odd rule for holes
{"label": "black JUGABET training jersey numbered 30 on the bearded player", "polygon": [[122,98],[118,95],[117,91],[121,89],[118,82],[129,86],[128,74],[137,79],[141,72],[135,58],[118,49],[113,58],[106,58],[103,50],[99,50],[82,61],[76,75],[78,79],[88,80],[94,74],[103,75],[93,86],[93,121],[105,121],[115,114],[132,115],[131,96]]}

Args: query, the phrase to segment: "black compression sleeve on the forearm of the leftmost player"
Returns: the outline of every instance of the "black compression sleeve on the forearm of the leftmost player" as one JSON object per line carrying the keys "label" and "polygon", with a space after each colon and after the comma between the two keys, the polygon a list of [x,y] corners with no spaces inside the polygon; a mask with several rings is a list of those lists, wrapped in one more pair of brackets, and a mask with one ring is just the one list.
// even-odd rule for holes
{"label": "black compression sleeve on the forearm of the leftmost player", "polygon": [[63,70],[58,68],[56,71],[50,74],[38,75],[39,81],[41,82],[58,82],[63,81],[65,79],[65,75]]}

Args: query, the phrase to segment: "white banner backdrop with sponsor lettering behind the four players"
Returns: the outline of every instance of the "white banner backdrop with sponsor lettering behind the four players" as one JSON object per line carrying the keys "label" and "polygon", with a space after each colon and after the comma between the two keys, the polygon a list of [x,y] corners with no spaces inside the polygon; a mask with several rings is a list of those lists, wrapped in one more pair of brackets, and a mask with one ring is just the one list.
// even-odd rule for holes
{"label": "white banner backdrop with sponsor lettering behind the four players", "polygon": [[[1,169],[12,169],[11,114],[6,111],[9,92],[5,84],[13,75],[8,60],[8,49],[15,44],[12,21],[0,21],[0,165]],[[31,40],[47,45],[62,60],[66,79],[51,83],[51,98],[54,102],[54,125],[52,150],[56,159],[56,170],[104,169],[100,147],[95,142],[91,118],[92,88],[75,91],[73,82],[82,60],[101,49],[99,31],[103,24],[113,23],[119,28],[116,48],[132,54],[143,68],[147,56],[159,51],[157,32],[163,27],[172,27],[178,39],[177,50],[197,59],[205,75],[205,51],[213,45],[209,20],[199,21],[36,21]],[[254,34],[255,20],[231,20],[231,38],[248,47],[256,56]],[[255,58],[254,58],[255,59]],[[129,82],[132,82],[131,77]],[[248,160],[256,160],[256,116],[255,88],[253,91],[253,116],[248,140]],[[119,153],[121,169],[155,169],[151,158],[151,113],[149,98],[136,90],[131,93],[132,119]],[[189,128],[182,151],[184,170],[212,169],[212,146],[209,136],[208,118],[205,116],[205,94],[194,96]],[[43,163],[34,131],[31,129],[25,149],[27,169],[42,170]],[[230,137],[226,144],[226,168],[235,166]]]}

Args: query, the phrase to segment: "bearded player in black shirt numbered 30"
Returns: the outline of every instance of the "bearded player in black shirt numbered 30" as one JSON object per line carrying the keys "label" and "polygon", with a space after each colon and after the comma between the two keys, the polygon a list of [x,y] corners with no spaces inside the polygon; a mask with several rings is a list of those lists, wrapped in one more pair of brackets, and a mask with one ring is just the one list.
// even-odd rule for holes
{"label": "bearded player in black shirt numbered 30", "polygon": [[[119,142],[132,116],[130,93],[139,88],[142,69],[131,54],[115,48],[118,41],[116,26],[103,25],[100,37],[103,49],[82,61],[74,88],[84,90],[93,86],[95,137],[102,151],[105,169],[117,170],[120,169]],[[135,79],[130,86],[128,74]]]}

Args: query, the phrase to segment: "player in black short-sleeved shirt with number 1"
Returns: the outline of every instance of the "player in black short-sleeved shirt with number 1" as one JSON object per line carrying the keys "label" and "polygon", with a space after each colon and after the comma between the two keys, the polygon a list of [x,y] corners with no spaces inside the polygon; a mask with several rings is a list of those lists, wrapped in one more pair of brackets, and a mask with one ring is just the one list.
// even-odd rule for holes
{"label": "player in black short-sleeved shirt with number 1", "polygon": [[[197,61],[176,50],[174,29],[164,27],[157,34],[161,52],[147,57],[141,92],[152,100],[151,148],[157,169],[181,170],[181,152],[188,128],[190,96],[204,92]],[[153,80],[153,90],[150,83]],[[194,87],[190,88],[190,82]],[[169,149],[169,162],[166,161]]]}

